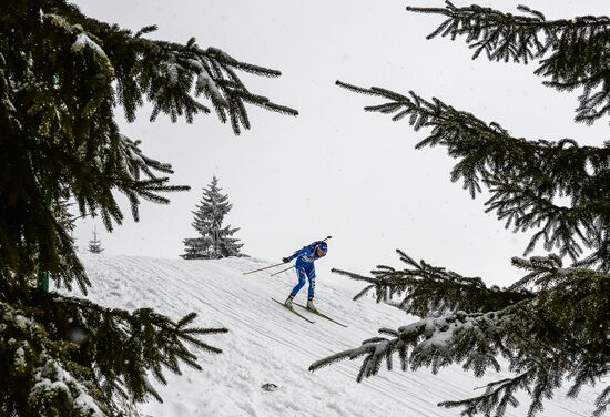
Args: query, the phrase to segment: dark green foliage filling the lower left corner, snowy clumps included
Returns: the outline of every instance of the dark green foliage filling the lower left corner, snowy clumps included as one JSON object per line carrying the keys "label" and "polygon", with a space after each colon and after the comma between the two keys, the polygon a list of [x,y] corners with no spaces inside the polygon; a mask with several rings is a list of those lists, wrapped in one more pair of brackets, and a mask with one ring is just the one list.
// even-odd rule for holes
{"label": "dark green foliage filling the lower left corner, snowy clumps included", "polygon": [[[22,307],[16,308],[17,304]],[[87,409],[72,404],[79,395],[95,399],[104,415],[119,415],[118,401],[143,401],[150,395],[161,400],[146,370],[166,384],[163,368],[180,374],[182,362],[201,369],[186,346],[220,353],[197,336],[226,332],[192,327],[194,314],[174,323],[148,308],[129,313],[31,291],[0,302],[0,314],[6,326],[0,343],[0,410],[7,416],[87,415]],[[47,386],[43,378],[49,384],[70,380],[71,389]]]}

